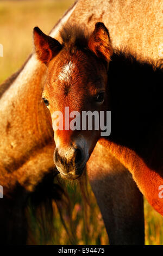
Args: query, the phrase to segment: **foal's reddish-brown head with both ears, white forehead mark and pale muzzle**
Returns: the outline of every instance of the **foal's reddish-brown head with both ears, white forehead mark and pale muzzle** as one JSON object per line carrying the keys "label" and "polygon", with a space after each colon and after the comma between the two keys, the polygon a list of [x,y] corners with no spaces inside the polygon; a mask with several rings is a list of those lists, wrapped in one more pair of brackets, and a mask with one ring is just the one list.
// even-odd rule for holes
{"label": "foal's reddish-brown head with both ears, white forehead mark and pale muzzle", "polygon": [[[83,111],[106,109],[105,89],[112,46],[108,29],[101,22],[96,23],[90,35],[77,26],[64,27],[60,35],[61,43],[35,27],[34,45],[37,58],[48,66],[43,101],[52,121],[57,118],[63,122],[59,129],[53,126],[54,163],[62,178],[76,179],[83,173],[101,131],[74,130],[68,126],[77,115],[73,111],[80,114],[82,126]],[[62,115],[56,115],[59,113],[56,111]]]}

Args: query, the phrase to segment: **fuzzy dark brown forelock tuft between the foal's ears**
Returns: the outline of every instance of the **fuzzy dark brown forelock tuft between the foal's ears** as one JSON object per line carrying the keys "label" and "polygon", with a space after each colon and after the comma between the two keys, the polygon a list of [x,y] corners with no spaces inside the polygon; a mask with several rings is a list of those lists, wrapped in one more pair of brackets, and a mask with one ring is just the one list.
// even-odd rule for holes
{"label": "fuzzy dark brown forelock tuft between the foal's ears", "polygon": [[85,48],[88,44],[89,32],[81,25],[66,24],[62,27],[60,36],[64,46]]}

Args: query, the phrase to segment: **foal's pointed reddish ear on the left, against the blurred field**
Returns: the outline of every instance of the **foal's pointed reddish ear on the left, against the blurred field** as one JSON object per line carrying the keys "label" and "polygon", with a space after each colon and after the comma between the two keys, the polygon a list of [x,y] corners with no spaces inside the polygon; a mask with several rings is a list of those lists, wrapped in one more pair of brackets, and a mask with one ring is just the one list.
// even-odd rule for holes
{"label": "foal's pointed reddish ear on the left, against the blurred field", "polygon": [[62,45],[51,36],[44,34],[38,27],[34,28],[33,37],[37,58],[48,65],[49,61],[60,52]]}

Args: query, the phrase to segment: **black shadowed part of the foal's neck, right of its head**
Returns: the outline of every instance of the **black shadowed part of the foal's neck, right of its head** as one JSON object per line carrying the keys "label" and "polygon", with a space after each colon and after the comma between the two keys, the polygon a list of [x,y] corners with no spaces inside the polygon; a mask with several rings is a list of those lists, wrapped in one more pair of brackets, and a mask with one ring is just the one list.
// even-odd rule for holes
{"label": "black shadowed part of the foal's neck, right of its head", "polygon": [[134,150],[143,159],[148,159],[156,145],[161,148],[162,71],[161,65],[156,68],[121,51],[114,53],[109,64],[111,135],[106,139]]}

